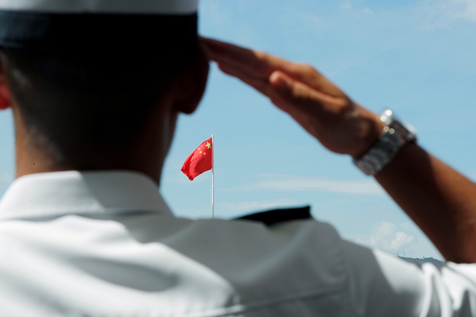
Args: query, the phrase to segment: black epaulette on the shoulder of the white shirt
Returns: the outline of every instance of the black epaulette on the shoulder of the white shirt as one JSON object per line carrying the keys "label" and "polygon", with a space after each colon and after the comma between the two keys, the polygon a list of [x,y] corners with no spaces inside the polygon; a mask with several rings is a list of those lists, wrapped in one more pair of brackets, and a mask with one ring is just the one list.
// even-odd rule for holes
{"label": "black epaulette on the shoulder of the white shirt", "polygon": [[312,219],[310,206],[300,208],[273,209],[235,218],[235,220],[259,221],[264,223],[266,226],[272,226],[277,223],[292,220],[306,219]]}

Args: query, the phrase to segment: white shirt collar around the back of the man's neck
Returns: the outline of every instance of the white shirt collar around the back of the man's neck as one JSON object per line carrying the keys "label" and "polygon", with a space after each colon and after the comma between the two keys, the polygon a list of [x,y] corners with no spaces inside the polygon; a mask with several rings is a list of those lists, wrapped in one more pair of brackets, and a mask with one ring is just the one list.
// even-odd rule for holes
{"label": "white shirt collar around the back of the man's neck", "polygon": [[161,212],[172,215],[146,175],[132,171],[66,171],[17,178],[0,201],[0,219]]}

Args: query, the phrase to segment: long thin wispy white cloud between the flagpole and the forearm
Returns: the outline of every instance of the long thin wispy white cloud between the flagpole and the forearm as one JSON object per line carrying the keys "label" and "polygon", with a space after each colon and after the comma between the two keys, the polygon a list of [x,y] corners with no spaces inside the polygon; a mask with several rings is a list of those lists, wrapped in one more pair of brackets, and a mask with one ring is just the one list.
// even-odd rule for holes
{"label": "long thin wispy white cloud between the flagpole and the forearm", "polygon": [[348,194],[382,194],[383,189],[373,180],[332,180],[308,176],[262,174],[255,182],[226,191],[325,191]]}

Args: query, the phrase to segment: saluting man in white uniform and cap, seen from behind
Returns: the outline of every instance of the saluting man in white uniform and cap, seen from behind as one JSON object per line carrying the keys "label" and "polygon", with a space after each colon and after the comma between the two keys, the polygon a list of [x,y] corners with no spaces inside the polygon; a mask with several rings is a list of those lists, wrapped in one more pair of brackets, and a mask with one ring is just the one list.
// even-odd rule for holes
{"label": "saluting man in white uniform and cap, seen from behind", "polygon": [[447,259],[473,262],[474,185],[391,111],[355,104],[312,67],[199,40],[193,0],[0,9],[0,107],[13,109],[17,155],[0,203],[1,316],[476,314],[474,264],[419,267],[309,217],[180,219],[157,191],[177,116],[201,100],[210,50],[223,71],[353,156]]}

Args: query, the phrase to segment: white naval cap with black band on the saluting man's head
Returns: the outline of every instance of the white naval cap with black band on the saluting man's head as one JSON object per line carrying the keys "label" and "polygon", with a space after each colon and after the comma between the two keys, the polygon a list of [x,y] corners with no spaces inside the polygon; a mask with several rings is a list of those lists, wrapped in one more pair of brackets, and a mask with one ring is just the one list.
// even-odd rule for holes
{"label": "white naval cap with black band on the saluting man's head", "polygon": [[198,0],[0,0],[0,48],[91,52],[197,42]]}

